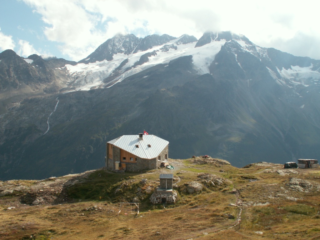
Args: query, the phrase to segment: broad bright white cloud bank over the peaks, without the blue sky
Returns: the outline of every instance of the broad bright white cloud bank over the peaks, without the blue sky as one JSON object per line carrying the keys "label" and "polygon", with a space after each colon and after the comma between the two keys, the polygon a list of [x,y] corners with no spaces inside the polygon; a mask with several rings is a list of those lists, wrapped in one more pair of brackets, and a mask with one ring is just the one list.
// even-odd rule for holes
{"label": "broad bright white cloud bank over the peaks, without the blue sky", "polygon": [[[80,60],[117,33],[182,34],[201,37],[205,31],[244,34],[255,44],[277,48],[301,36],[320,39],[318,10],[303,4],[256,0],[23,0],[42,16],[44,34],[60,51]],[[319,42],[313,42],[319,45]],[[315,46],[316,47],[316,46]],[[320,58],[320,55],[319,55]]]}

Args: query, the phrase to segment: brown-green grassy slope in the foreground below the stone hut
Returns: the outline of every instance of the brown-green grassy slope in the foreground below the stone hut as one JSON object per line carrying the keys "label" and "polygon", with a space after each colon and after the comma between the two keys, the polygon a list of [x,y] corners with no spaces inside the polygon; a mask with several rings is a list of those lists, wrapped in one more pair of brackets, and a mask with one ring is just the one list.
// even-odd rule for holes
{"label": "brown-green grassy slope in the foreground below the stone hut", "polygon": [[[172,162],[179,162],[172,160]],[[183,164],[181,164],[183,162]],[[174,164],[173,164],[174,165]],[[267,172],[263,170],[268,169]],[[119,202],[131,202],[138,188],[158,185],[157,170],[145,173],[114,174],[98,170],[82,180],[75,181],[65,191],[74,198],[73,203],[28,206],[19,204],[15,196],[0,198],[1,239],[319,239],[320,215],[318,215],[319,170],[296,170],[280,175],[275,170],[281,166],[254,164],[249,168],[224,165],[193,164],[192,160],[180,160],[171,170],[180,186],[179,200],[175,205],[149,204],[144,192],[138,218],[132,214],[120,214]],[[186,194],[184,183],[197,179],[200,172],[211,173],[228,179],[221,187],[204,188],[200,194]],[[177,174],[178,173],[178,174]],[[309,181],[314,188],[309,192],[297,192],[287,187],[290,178]],[[140,183],[147,178],[147,185]],[[257,179],[257,181],[249,181]],[[71,183],[72,179],[67,182]],[[20,181],[20,184],[23,184]],[[26,182],[30,185],[30,181]],[[66,184],[68,185],[68,183]],[[239,194],[232,194],[236,188]],[[120,189],[116,192],[116,189]],[[289,199],[290,198],[290,199]],[[81,202],[79,202],[81,199]],[[236,219],[243,204],[241,225],[228,228]],[[97,210],[84,211],[93,205]],[[7,207],[16,206],[14,210]],[[99,209],[101,208],[101,209]],[[130,213],[130,210],[124,212]],[[219,231],[225,229],[224,231]],[[258,235],[255,231],[262,231]],[[30,238],[30,236],[32,236]]]}

